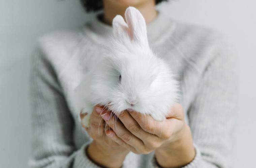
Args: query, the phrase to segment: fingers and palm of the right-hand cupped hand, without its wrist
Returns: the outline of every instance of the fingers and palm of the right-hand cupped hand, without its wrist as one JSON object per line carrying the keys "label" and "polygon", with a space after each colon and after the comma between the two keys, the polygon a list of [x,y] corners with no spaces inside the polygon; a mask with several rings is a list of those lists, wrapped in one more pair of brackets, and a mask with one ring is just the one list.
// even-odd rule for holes
{"label": "fingers and palm of the right-hand cupped hand, without its wrist", "polygon": [[167,118],[156,121],[149,115],[125,110],[116,117],[110,117],[111,112],[101,115],[106,124],[114,130],[114,141],[123,140],[132,152],[148,154],[166,146],[179,138],[179,132],[184,129],[184,114],[182,107],[175,104]]}

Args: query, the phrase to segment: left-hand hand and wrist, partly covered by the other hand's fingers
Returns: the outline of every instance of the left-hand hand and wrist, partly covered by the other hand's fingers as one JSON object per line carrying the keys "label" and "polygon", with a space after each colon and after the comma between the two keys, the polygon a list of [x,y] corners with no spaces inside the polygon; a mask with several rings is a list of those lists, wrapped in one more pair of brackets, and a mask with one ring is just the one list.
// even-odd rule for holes
{"label": "left-hand hand and wrist, partly covered by the other hand's fingers", "polygon": [[[90,127],[82,125],[94,139],[87,149],[87,154],[98,165],[118,168],[122,166],[125,156],[133,149],[130,149],[132,147],[121,138],[114,138],[114,131],[105,125],[105,121],[102,119],[107,110],[102,109],[103,107],[95,106],[90,118]],[[81,119],[85,115],[80,114]]]}

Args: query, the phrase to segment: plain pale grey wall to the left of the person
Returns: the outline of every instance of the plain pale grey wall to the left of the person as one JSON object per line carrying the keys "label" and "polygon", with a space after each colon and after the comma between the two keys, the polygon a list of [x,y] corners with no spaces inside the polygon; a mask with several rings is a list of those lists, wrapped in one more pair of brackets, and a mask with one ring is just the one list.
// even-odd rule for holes
{"label": "plain pale grey wall to the left of the person", "polygon": [[79,0],[0,2],[0,167],[27,168],[31,119],[29,70],[39,36],[91,19]]}

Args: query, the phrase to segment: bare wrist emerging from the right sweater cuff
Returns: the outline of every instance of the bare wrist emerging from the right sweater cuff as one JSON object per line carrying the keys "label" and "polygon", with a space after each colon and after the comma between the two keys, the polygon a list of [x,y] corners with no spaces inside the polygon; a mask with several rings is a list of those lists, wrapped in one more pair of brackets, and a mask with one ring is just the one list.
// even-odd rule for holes
{"label": "bare wrist emerging from the right sweater cuff", "polygon": [[191,130],[187,124],[177,137],[155,151],[156,161],[161,167],[179,168],[194,159],[195,149]]}

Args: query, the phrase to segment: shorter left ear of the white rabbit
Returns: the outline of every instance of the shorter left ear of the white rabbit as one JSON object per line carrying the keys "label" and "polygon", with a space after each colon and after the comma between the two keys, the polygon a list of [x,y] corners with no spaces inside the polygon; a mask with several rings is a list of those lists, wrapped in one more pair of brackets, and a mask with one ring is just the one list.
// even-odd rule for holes
{"label": "shorter left ear of the white rabbit", "polygon": [[129,29],[121,15],[116,15],[112,22],[113,33],[117,39],[125,39],[129,37]]}

